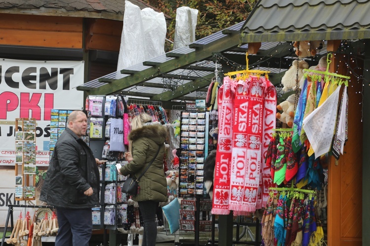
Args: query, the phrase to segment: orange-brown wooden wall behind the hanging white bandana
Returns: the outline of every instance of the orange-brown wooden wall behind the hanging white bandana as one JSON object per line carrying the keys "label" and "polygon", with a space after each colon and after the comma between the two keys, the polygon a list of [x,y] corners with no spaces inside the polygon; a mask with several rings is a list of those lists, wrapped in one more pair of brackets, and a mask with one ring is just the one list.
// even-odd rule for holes
{"label": "orange-brown wooden wall behind the hanging white bandana", "polygon": [[[347,74],[348,58],[336,55],[333,67]],[[339,62],[342,61],[342,62]],[[343,62],[346,61],[346,62]],[[358,61],[361,63],[361,61]],[[352,65],[351,62],[348,62]],[[356,63],[356,62],[354,62]],[[360,67],[361,64],[357,63]],[[355,69],[355,68],[354,68]],[[359,71],[358,71],[359,72]],[[331,157],[328,184],[328,240],[330,246],[362,245],[362,82],[354,76],[348,90],[348,141],[338,161]]]}

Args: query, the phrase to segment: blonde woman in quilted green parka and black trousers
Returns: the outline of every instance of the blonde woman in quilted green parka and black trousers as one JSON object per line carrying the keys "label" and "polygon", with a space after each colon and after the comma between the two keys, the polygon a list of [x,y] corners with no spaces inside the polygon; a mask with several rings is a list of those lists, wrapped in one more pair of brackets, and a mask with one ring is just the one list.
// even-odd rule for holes
{"label": "blonde woman in quilted green parka and black trousers", "polygon": [[152,123],[148,114],[140,114],[132,119],[128,140],[131,153],[126,153],[128,164],[121,167],[122,175],[139,177],[159,149],[153,163],[139,181],[139,192],[132,199],[137,201],[144,221],[142,246],[155,246],[157,226],[155,214],[159,202],[167,201],[167,181],[163,170],[164,141],[167,128],[160,123]]}

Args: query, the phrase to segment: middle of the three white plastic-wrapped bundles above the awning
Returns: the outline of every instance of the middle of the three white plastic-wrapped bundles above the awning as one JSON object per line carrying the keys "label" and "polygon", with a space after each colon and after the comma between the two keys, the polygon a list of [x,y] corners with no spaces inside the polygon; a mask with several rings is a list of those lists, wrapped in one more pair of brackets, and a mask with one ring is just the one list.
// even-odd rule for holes
{"label": "middle of the three white plastic-wrapped bundles above the awning", "polygon": [[163,13],[155,12],[151,8],[142,9],[141,18],[145,35],[145,60],[149,60],[165,53],[166,19]]}

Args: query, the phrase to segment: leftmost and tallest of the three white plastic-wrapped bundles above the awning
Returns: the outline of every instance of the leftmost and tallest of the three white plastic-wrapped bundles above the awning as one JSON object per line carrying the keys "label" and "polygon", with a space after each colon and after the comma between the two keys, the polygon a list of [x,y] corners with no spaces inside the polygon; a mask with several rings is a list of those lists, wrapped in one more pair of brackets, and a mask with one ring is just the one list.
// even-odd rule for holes
{"label": "leftmost and tallest of the three white plastic-wrapped bundles above the awning", "polygon": [[122,77],[120,70],[123,68],[145,61],[144,36],[140,8],[130,1],[125,1],[116,79]]}

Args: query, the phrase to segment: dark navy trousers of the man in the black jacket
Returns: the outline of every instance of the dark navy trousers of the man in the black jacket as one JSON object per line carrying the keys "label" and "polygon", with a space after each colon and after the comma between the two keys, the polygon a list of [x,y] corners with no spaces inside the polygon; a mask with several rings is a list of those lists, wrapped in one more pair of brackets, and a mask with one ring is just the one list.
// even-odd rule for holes
{"label": "dark navy trousers of the man in the black jacket", "polygon": [[57,208],[58,234],[55,246],[89,246],[92,234],[91,209]]}

